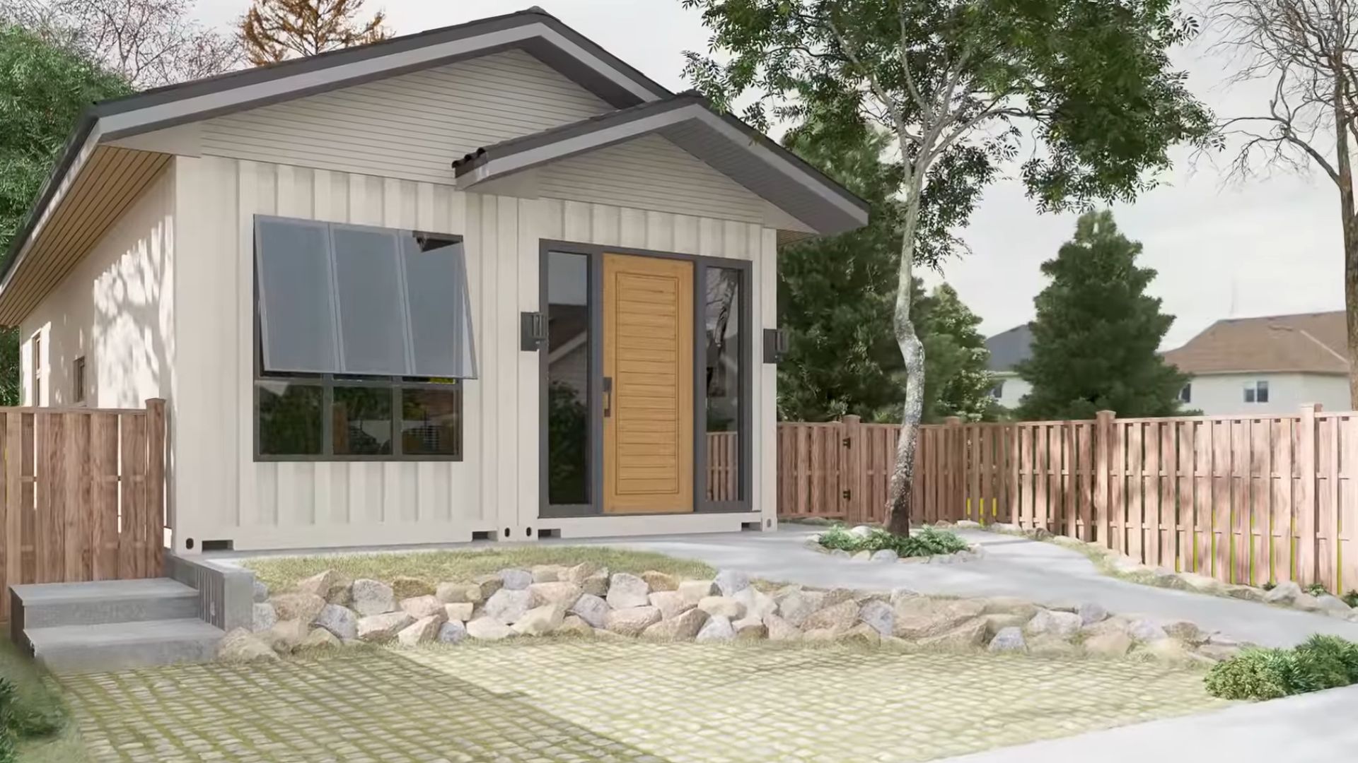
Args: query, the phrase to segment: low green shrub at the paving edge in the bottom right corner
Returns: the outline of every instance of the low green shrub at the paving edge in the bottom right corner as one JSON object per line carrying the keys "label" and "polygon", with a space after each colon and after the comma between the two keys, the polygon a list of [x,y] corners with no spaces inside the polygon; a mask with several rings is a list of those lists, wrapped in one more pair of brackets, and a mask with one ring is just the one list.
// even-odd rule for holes
{"label": "low green shrub at the paving edge in the bottom right corner", "polygon": [[1222,699],[1277,699],[1358,683],[1358,644],[1312,635],[1296,649],[1247,649],[1207,672]]}

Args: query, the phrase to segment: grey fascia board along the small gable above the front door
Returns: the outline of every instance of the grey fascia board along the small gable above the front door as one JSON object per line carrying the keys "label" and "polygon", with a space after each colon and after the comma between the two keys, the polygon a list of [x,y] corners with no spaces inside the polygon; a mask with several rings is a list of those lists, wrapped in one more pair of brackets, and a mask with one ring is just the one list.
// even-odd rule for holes
{"label": "grey fascia board along the small gable above the front door", "polygon": [[[760,141],[752,140],[744,130],[736,128],[721,115],[714,114],[702,103],[691,100],[682,102],[682,105],[674,109],[667,109],[660,113],[642,114],[621,124],[607,125],[598,129],[589,129],[583,125],[581,129],[585,132],[570,134],[569,137],[559,137],[558,133],[558,136],[550,136],[555,140],[547,140],[546,143],[531,140],[524,141],[520,148],[512,153],[500,157],[496,157],[492,153],[485,162],[473,166],[464,175],[458,178],[458,187],[460,190],[469,190],[477,183],[496,176],[519,172],[549,162],[569,159],[579,153],[606,148],[642,134],[659,132],[665,126],[689,119],[698,119],[720,133],[724,138],[736,144],[744,144],[751,153],[778,170],[789,181],[796,182],[804,189],[815,193],[819,198],[834,205],[850,219],[858,220],[860,225],[865,225],[868,223],[868,210],[862,206],[845,198],[837,191],[837,189],[828,187],[818,176],[808,174],[805,170],[797,167],[786,157],[779,156]],[[493,151],[494,149],[492,148],[492,152]]]}

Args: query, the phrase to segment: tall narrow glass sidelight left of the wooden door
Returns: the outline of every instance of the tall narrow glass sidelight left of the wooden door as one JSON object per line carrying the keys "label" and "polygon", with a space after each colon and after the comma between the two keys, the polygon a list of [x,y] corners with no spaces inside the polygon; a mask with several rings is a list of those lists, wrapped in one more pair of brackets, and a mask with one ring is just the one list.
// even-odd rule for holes
{"label": "tall narrow glass sidelight left of the wooden door", "polygon": [[547,254],[547,502],[589,502],[589,258]]}

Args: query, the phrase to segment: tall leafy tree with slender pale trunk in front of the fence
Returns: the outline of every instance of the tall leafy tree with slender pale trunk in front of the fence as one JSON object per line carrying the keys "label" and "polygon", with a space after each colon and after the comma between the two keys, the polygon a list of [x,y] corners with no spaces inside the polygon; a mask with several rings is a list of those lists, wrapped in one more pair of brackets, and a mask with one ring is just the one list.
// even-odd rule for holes
{"label": "tall leafy tree with slender pale trunk in front of the fence", "polygon": [[917,261],[956,250],[999,164],[1021,166],[1043,209],[1128,200],[1202,141],[1211,119],[1169,65],[1194,31],[1173,0],[682,0],[712,30],[686,75],[716,105],[746,91],[756,126],[884,128],[896,141],[900,219],[894,337],[906,368],[887,525],[910,531],[925,348],[911,320]]}

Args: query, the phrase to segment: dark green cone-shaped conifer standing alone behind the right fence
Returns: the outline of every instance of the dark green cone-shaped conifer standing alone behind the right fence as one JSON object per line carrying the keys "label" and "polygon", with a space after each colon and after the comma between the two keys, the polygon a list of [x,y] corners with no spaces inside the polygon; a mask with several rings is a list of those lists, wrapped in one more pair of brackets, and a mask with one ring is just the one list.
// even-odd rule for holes
{"label": "dark green cone-shaped conifer standing alone behind the right fence", "polygon": [[1188,377],[1160,357],[1175,322],[1146,295],[1156,277],[1137,267],[1141,244],[1118,232],[1111,212],[1080,217],[1076,238],[1042,263],[1051,284],[1033,300],[1031,356],[1014,369],[1032,384],[1024,420],[1175,415]]}

